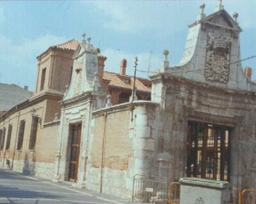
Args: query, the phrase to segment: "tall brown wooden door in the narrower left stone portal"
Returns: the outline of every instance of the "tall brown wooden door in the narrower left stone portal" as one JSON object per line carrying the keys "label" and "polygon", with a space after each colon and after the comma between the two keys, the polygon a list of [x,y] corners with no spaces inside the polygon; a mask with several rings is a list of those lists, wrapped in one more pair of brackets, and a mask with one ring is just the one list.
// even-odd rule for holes
{"label": "tall brown wooden door in the narrower left stone portal", "polygon": [[79,166],[79,152],[81,142],[81,124],[70,126],[71,148],[68,180],[77,182],[77,173]]}

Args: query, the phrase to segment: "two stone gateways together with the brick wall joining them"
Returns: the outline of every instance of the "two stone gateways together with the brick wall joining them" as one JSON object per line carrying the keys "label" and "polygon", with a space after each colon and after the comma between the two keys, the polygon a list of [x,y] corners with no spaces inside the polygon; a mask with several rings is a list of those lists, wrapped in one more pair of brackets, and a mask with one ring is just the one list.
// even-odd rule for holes
{"label": "two stone gateways together with the brick wall joining them", "polygon": [[256,84],[252,69],[241,66],[242,30],[237,14],[230,17],[221,1],[208,16],[204,6],[189,25],[180,64],[170,67],[164,51],[163,71],[150,77],[151,101],[104,107],[93,75],[97,64],[90,73],[84,63],[95,61],[95,49],[89,54],[89,45],[81,44],[85,50],[77,55],[76,69],[88,85],[81,88],[84,95],[70,89],[62,102],[56,179],[126,198],[135,175],[168,182],[199,177],[255,188]]}

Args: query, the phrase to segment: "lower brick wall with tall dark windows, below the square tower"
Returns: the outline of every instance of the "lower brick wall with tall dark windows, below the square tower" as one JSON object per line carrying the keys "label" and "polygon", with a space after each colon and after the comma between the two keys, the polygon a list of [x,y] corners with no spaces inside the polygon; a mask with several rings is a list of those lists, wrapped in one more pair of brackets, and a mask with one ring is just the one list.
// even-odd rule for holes
{"label": "lower brick wall with tall dark windows, below the square tower", "polygon": [[[49,107],[51,112],[59,112],[58,107],[54,109],[54,104],[56,104],[58,100],[54,101],[54,99],[49,99],[49,103],[51,103],[52,107]],[[0,152],[0,166],[7,166],[4,164],[5,159],[9,158],[12,164],[13,161],[13,170],[17,170],[20,172],[31,172],[36,173],[36,171],[32,172],[30,168],[31,166],[38,166],[40,164],[40,172],[42,174],[42,166],[47,166],[48,164],[54,165],[55,162],[55,154],[56,154],[56,143],[58,138],[58,122],[44,126],[45,113],[49,112],[47,110],[47,99],[36,103],[31,106],[24,106],[20,110],[13,112],[6,119],[1,120],[0,129],[6,128],[6,135],[4,140],[4,149]],[[31,133],[31,122],[32,116],[30,110],[35,108],[36,116],[39,117],[41,122],[38,122],[37,133],[36,133],[36,142],[35,142],[35,150],[32,152],[29,150],[29,140]],[[25,128],[24,128],[24,136],[22,142],[22,148],[17,150],[17,140],[19,133],[19,124],[20,120],[25,120]],[[53,117],[52,117],[53,120]],[[12,135],[10,140],[10,149],[5,150],[6,148],[6,138],[8,134],[8,125],[12,124]],[[30,164],[31,163],[31,164]],[[35,164],[34,164],[35,163]],[[15,166],[19,164],[19,166]],[[21,166],[20,166],[21,165]],[[22,166],[23,165],[23,166]],[[36,168],[37,169],[37,168]],[[35,169],[35,170],[36,170]],[[50,169],[45,168],[45,175],[47,175],[46,171]],[[52,171],[52,170],[51,170]]]}

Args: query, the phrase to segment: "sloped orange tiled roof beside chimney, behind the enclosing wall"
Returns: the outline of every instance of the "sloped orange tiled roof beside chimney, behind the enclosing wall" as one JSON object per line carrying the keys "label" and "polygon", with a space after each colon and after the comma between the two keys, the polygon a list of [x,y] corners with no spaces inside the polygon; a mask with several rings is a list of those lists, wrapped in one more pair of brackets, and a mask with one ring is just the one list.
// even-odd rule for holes
{"label": "sloped orange tiled roof beside chimney, behind the enclosing wall", "polygon": [[[104,71],[103,80],[108,81],[109,87],[132,90],[134,77]],[[146,78],[136,78],[135,86],[137,91],[151,92],[151,81]]]}

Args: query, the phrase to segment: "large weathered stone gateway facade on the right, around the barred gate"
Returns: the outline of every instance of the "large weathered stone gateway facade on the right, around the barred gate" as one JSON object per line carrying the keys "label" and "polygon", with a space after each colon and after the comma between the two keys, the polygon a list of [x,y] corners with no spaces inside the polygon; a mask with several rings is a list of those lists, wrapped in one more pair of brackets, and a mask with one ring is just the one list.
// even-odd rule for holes
{"label": "large weathered stone gateway facade on the right, around the barred gate", "polygon": [[202,15],[189,25],[180,64],[151,77],[152,101],[162,107],[159,140],[163,145],[158,151],[166,169],[159,169],[159,174],[168,180],[186,176],[189,122],[200,122],[230,129],[226,173],[231,186],[256,186],[256,84],[246,77],[239,62],[240,32],[223,7],[208,17]]}

